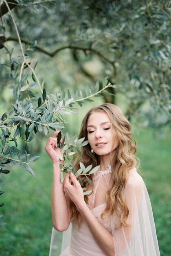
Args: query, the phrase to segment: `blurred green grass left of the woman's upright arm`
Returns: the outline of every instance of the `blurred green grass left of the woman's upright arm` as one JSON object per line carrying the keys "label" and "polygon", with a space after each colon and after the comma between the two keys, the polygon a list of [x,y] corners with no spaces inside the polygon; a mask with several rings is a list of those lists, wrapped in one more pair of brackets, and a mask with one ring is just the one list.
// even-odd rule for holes
{"label": "blurred green grass left of the woman's upright arm", "polygon": [[[0,209],[1,256],[48,256],[52,230],[50,195],[52,164],[45,152],[32,164],[37,178],[23,169],[1,175],[5,185]],[[61,233],[59,233],[59,245]]]}

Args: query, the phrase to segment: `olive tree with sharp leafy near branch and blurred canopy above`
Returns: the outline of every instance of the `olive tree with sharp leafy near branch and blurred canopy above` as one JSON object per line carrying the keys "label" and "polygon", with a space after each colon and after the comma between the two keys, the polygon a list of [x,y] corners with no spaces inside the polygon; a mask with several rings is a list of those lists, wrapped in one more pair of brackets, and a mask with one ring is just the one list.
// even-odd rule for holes
{"label": "olive tree with sharp leafy near branch and blurred canopy above", "polygon": [[[0,121],[0,172],[9,173],[9,166],[19,164],[35,175],[29,166],[38,158],[30,155],[35,135],[63,129],[63,114],[72,114],[75,103],[82,106],[99,93],[108,102],[125,101],[128,119],[143,117],[151,126],[170,124],[169,11],[167,0],[0,1],[1,97],[7,86],[13,90],[12,108],[10,104],[3,108]],[[50,85],[49,73],[56,72],[59,55],[78,67],[79,86],[66,85],[62,75],[58,91]],[[50,68],[47,58],[53,63]],[[101,65],[98,73],[92,69],[96,61]],[[40,72],[44,65],[46,70]],[[71,68],[71,77],[74,72]],[[108,80],[103,79],[106,76]],[[66,151],[61,180],[66,171],[75,171],[72,155],[87,143],[69,135],[63,141],[59,144]],[[94,171],[80,167],[85,175]]]}

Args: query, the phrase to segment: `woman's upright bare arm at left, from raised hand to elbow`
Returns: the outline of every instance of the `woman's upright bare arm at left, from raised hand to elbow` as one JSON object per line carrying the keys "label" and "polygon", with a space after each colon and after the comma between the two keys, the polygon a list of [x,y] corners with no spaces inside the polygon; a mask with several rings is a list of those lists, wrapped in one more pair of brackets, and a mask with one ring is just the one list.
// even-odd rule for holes
{"label": "woman's upright bare arm at left, from raised hand to elbow", "polygon": [[65,231],[70,225],[70,207],[69,199],[64,193],[64,184],[60,180],[61,170],[59,164],[62,161],[59,159],[60,148],[57,147],[57,134],[54,132],[53,137],[49,137],[45,146],[45,150],[53,162],[53,185],[52,185],[52,222],[53,227],[58,231]]}

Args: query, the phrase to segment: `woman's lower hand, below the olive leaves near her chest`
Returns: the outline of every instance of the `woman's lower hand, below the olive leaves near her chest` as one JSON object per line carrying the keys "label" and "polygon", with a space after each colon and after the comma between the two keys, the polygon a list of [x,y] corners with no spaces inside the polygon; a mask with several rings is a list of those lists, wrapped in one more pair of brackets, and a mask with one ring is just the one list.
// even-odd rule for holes
{"label": "woman's lower hand, below the olive leaves near her chest", "polygon": [[[71,184],[71,182],[73,184]],[[84,204],[84,194],[81,185],[79,184],[76,176],[71,173],[67,174],[64,179],[64,192],[67,197],[76,205],[77,209],[81,207],[81,204]]]}

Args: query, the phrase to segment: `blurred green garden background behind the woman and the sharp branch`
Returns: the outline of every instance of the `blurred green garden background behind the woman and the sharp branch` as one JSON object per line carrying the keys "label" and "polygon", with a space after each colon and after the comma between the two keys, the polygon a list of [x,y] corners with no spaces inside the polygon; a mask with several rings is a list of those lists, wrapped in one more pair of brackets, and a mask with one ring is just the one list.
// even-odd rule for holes
{"label": "blurred green garden background behind the woman and the sharp branch", "polygon": [[[160,253],[169,256],[170,1],[0,0],[0,115],[14,103],[11,89],[19,67],[13,58],[21,60],[8,2],[25,57],[29,63],[38,61],[37,74],[48,94],[69,88],[73,97],[79,97],[78,88],[81,92],[87,85],[94,88],[104,77],[121,85],[83,108],[77,104],[77,114],[65,117],[64,132],[78,135],[83,116],[93,106],[111,102],[121,107],[138,140],[140,171],[151,198]],[[32,92],[37,94],[37,87]],[[37,179],[20,167],[2,174],[7,189],[2,195],[6,206],[1,208],[7,225],[0,227],[4,256],[48,255],[52,166],[42,150],[45,139],[38,137],[31,144],[33,154],[41,154],[34,164]]]}

